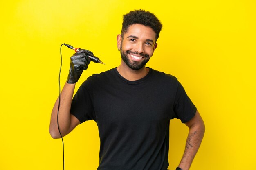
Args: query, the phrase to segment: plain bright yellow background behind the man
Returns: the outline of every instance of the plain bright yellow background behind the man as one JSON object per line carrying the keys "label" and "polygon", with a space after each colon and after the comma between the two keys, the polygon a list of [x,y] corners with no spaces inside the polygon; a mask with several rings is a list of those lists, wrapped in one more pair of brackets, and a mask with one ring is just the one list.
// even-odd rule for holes
{"label": "plain bright yellow background behind the man", "polygon": [[[191,170],[256,169],[255,0],[14,0],[1,3],[0,170],[61,170],[62,142],[48,133],[58,97],[60,45],[85,48],[118,66],[122,15],[149,10],[164,26],[147,66],[179,78],[206,124]],[[70,56],[63,46],[63,87]],[[184,150],[188,129],[170,127],[169,168]],[[97,125],[88,121],[64,137],[65,169],[95,170]],[[125,155],[124,155],[125,156]]]}

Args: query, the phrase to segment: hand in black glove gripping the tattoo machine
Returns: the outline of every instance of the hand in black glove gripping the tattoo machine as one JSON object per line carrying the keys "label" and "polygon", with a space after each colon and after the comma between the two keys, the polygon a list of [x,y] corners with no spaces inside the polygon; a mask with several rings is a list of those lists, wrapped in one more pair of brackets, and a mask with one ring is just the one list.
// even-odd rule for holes
{"label": "hand in black glove gripping the tattoo machine", "polygon": [[82,49],[70,57],[70,72],[67,76],[67,83],[74,84],[79,80],[83,70],[86,70],[91,62],[88,55],[93,56],[93,53]]}

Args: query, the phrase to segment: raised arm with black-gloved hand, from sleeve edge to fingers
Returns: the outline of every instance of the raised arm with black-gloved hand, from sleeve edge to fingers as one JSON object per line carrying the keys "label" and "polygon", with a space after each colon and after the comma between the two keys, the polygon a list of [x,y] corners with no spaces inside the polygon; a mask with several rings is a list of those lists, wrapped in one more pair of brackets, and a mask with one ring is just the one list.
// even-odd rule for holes
{"label": "raised arm with black-gloved hand, from sleeve edge to fingers", "polygon": [[[60,138],[61,135],[62,137],[67,135],[80,123],[75,116],[70,114],[70,108],[75,84],[79,80],[83,70],[86,70],[90,63],[90,58],[87,55],[93,56],[93,53],[88,50],[80,50],[70,58],[70,71],[67,77],[67,82],[61,92],[60,105],[58,98],[52,109],[49,133],[54,139]],[[58,130],[58,124],[61,135]]]}

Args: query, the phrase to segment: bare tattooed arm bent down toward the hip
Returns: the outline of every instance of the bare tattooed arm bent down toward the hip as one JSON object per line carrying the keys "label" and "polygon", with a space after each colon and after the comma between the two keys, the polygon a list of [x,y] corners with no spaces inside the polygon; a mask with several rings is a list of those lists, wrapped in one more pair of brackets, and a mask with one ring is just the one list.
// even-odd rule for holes
{"label": "bare tattooed arm bent down toward the hip", "polygon": [[186,139],[186,147],[179,167],[183,170],[189,170],[204,137],[205,126],[198,111],[196,111],[195,116],[185,124],[189,127],[189,135]]}

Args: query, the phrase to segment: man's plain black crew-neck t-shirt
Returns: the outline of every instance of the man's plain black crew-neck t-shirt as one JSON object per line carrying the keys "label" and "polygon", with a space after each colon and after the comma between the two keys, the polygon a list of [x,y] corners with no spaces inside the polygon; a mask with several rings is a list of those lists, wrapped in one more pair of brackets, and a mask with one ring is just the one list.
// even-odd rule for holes
{"label": "man's plain black crew-neck t-shirt", "polygon": [[116,68],[90,76],[76,92],[71,113],[99,128],[97,170],[166,170],[169,123],[183,123],[196,107],[177,78],[149,68],[137,81],[123,78]]}

